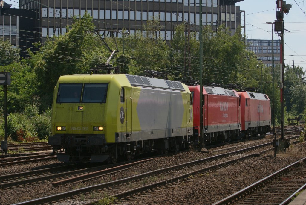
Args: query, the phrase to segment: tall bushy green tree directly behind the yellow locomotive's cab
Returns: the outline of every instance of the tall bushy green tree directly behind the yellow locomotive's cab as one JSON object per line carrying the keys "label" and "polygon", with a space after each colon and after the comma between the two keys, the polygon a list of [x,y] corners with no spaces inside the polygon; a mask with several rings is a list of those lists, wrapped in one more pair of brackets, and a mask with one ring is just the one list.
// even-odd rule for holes
{"label": "tall bushy green tree directly behind the yellow locomotive's cab", "polygon": [[54,86],[61,75],[89,73],[91,68],[99,65],[100,41],[89,32],[94,28],[92,17],[85,13],[82,18],[74,17],[73,21],[65,35],[48,39],[35,53],[34,70],[45,108],[52,101]]}

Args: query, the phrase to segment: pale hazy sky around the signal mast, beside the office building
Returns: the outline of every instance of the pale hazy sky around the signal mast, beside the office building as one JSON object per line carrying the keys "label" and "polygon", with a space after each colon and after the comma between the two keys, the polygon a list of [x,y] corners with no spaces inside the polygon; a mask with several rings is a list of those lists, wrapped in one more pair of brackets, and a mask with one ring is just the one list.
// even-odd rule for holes
{"label": "pale hazy sky around the signal mast, beside the office building", "polygon": [[[4,0],[12,4],[11,8],[18,8],[18,0]],[[292,8],[284,15],[285,29],[285,64],[300,65],[306,70],[306,0],[287,0],[286,4]],[[235,4],[245,11],[246,35],[248,39],[272,39],[272,25],[266,22],[276,20],[275,0],[244,0]],[[244,25],[242,17],[241,24]],[[244,31],[242,31],[244,32]],[[274,33],[274,39],[279,39]],[[293,62],[294,61],[294,62]]]}

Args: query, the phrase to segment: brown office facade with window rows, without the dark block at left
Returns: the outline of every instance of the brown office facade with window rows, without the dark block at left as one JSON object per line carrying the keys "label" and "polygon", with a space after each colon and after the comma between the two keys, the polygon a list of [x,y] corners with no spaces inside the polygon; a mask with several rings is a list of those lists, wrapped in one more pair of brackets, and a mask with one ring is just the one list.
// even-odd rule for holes
{"label": "brown office facade with window rows, without the dark block at left", "polygon": [[[203,25],[226,24],[234,33],[241,24],[240,7],[243,0],[202,0]],[[20,8],[35,9],[40,14],[41,37],[63,35],[73,16],[83,16],[87,11],[95,27],[125,29],[130,35],[142,30],[147,20],[159,19],[161,35],[171,40],[174,26],[184,21],[191,31],[199,31],[200,0],[20,0]],[[38,26],[38,25],[37,25]],[[120,33],[117,34],[121,36]]]}

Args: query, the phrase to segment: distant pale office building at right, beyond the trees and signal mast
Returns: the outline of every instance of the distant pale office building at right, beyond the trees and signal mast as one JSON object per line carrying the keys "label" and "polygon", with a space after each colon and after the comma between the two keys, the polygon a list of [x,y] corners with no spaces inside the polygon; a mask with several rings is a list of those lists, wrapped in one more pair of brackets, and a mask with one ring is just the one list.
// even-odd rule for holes
{"label": "distant pale office building at right, beyond the trees and signal mast", "polygon": [[[262,60],[268,67],[272,66],[272,39],[246,39],[247,49],[255,53],[258,60]],[[280,40],[273,41],[274,67],[280,64],[281,44]]]}

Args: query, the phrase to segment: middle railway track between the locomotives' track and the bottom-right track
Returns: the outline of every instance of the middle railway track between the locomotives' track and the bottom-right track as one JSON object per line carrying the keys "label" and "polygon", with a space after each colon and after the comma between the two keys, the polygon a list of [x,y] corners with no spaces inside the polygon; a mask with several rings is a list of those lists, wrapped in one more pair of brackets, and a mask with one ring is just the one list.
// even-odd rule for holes
{"label": "middle railway track between the locomotives' track and the bottom-right track", "polygon": [[[97,200],[91,201],[92,192],[95,192],[97,196],[104,196],[105,193],[107,194],[107,196],[117,197],[117,198],[122,198],[127,195],[131,196],[135,192],[139,192],[141,190],[149,190],[151,188],[157,186],[159,187],[168,184],[170,182],[172,183],[177,180],[181,180],[184,178],[186,179],[189,176],[203,172],[205,173],[211,169],[222,169],[222,167],[225,166],[234,166],[235,164],[241,163],[242,161],[248,158],[258,156],[259,155],[258,153],[260,152],[273,150],[274,148],[273,147],[271,148],[271,144],[272,142],[269,142],[262,145],[253,146],[250,148],[245,148],[242,150],[226,154],[220,154],[201,160],[196,160],[180,165],[154,170],[147,173],[142,173],[124,179],[110,181],[103,184],[97,184],[17,204],[42,204],[42,203],[54,202],[56,200],[62,200],[62,199],[66,200],[67,198],[81,200],[80,196],[78,196],[80,194],[88,203],[95,203]],[[137,194],[137,196],[141,196],[141,194],[140,195]],[[133,197],[135,196],[132,196],[132,198]]]}

